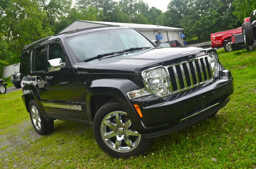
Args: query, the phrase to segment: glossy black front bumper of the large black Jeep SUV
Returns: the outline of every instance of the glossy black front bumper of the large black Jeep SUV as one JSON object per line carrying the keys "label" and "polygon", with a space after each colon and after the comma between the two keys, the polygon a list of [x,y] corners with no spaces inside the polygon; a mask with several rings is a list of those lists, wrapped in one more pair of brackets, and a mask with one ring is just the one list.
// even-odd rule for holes
{"label": "glossy black front bumper of the large black Jeep SUV", "polygon": [[194,89],[165,98],[155,95],[132,100],[139,105],[143,117],[135,128],[144,137],[157,137],[195,123],[224,107],[234,92],[230,71],[220,72],[220,78]]}

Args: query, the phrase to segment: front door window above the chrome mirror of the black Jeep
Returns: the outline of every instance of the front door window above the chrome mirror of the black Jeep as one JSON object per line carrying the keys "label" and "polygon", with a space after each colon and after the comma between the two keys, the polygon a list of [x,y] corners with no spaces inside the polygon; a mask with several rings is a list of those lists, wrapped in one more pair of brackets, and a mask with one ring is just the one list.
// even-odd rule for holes
{"label": "front door window above the chrome mirror of the black Jeep", "polygon": [[60,43],[49,44],[49,60],[60,58],[62,63],[67,61],[64,51],[61,48]]}

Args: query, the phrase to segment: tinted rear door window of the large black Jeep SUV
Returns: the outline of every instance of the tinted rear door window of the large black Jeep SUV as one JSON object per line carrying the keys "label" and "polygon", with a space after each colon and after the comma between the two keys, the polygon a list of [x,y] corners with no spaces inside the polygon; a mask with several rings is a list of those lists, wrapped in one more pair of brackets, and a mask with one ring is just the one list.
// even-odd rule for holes
{"label": "tinted rear door window of the large black Jeep SUV", "polygon": [[40,46],[33,50],[32,71],[45,70],[45,46]]}

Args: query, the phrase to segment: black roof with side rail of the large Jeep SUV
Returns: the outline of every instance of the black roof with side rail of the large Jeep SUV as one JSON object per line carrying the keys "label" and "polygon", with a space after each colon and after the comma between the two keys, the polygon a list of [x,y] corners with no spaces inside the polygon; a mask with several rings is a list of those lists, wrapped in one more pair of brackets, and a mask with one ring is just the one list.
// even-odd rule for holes
{"label": "black roof with side rail of the large Jeep SUV", "polygon": [[[32,48],[32,47],[34,47],[34,46],[36,46],[38,44],[41,44],[43,42],[46,42],[48,40],[54,40],[54,39],[57,39],[57,38],[63,39],[63,38],[71,37],[71,36],[76,36],[76,35],[79,35],[79,34],[84,34],[84,33],[91,33],[91,32],[97,32],[97,31],[101,31],[101,30],[115,29],[117,27],[118,28],[129,28],[129,27],[122,27],[122,26],[118,26],[117,25],[117,26],[97,26],[97,27],[91,27],[91,28],[71,30],[71,31],[68,31],[68,32],[63,32],[63,33],[55,34],[53,36],[48,36],[46,38],[37,40],[37,41],[35,41],[35,42],[25,46],[23,48],[23,50],[28,50],[28,48]],[[81,33],[81,32],[83,32],[83,33]]]}

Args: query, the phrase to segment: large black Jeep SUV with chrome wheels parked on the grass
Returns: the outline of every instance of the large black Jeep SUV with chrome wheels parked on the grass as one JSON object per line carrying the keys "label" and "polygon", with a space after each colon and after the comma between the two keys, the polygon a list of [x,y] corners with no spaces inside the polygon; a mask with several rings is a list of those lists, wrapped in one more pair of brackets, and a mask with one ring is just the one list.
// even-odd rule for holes
{"label": "large black Jeep SUV with chrome wheels parked on the grass", "polygon": [[233,93],[233,77],[212,48],[157,48],[128,27],[66,32],[26,46],[22,99],[40,135],[54,120],[93,127],[112,157],[147,150],[150,138],[215,115]]}

